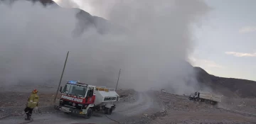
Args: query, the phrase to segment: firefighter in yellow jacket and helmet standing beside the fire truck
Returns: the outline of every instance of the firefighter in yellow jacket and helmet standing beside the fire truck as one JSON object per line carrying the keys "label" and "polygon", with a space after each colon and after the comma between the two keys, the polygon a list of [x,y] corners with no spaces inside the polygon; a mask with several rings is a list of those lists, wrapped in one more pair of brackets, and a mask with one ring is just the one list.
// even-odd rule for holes
{"label": "firefighter in yellow jacket and helmet standing beside the fire truck", "polygon": [[33,109],[38,109],[38,95],[37,95],[38,91],[36,89],[34,89],[31,93],[31,96],[29,96],[28,101],[26,103],[26,108],[25,108],[25,113],[27,115],[27,118],[25,118],[25,120],[31,120],[31,115],[32,115],[32,111]]}

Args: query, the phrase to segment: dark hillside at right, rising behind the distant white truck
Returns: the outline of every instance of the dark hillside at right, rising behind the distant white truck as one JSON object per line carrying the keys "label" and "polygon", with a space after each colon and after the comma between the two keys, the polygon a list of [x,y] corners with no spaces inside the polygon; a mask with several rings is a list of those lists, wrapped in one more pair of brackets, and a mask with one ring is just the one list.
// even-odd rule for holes
{"label": "dark hillside at right, rising behind the distant white truck", "polygon": [[229,97],[253,98],[256,97],[256,81],[215,77],[208,74],[201,67],[194,67],[196,77],[202,84],[210,86],[213,91]]}

